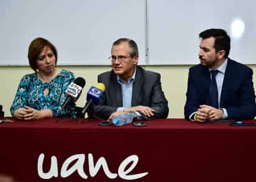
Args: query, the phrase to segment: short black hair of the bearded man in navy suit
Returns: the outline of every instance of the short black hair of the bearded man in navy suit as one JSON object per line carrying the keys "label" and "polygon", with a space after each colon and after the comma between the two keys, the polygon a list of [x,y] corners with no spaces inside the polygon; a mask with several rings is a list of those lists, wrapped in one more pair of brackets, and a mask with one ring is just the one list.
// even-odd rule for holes
{"label": "short black hair of the bearded man in navy suit", "polygon": [[227,32],[223,29],[207,29],[199,34],[202,39],[208,39],[214,37],[214,48],[216,51],[225,50],[225,58],[229,56],[231,49],[231,38],[227,35]]}

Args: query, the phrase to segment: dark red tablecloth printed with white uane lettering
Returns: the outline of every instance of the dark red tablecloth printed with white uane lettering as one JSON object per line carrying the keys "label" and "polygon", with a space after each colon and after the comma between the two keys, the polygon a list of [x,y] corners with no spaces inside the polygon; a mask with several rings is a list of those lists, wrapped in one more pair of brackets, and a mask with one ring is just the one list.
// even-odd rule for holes
{"label": "dark red tablecloth printed with white uane lettering", "polygon": [[[119,165],[137,155],[139,161],[127,175],[148,174],[132,181],[256,181],[256,127],[196,124],[183,119],[147,121],[146,127],[103,127],[99,121],[86,119],[77,124],[71,119],[55,123],[57,120],[0,124],[0,173],[19,181],[49,181],[38,173],[43,153],[44,173],[50,170],[51,157],[57,158],[58,176],[50,181],[127,181],[120,177]],[[108,178],[102,167],[91,176],[89,153],[94,164],[104,157],[117,177]],[[85,155],[83,171],[88,178],[78,171],[64,178],[60,175],[63,163],[77,154]]]}

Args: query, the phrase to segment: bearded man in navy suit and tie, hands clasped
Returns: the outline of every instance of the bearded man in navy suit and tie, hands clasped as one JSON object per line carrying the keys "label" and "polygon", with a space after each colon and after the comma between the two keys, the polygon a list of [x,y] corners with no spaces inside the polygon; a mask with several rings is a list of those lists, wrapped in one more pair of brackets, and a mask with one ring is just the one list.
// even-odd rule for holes
{"label": "bearded man in navy suit and tie, hands clasped", "polygon": [[253,71],[228,58],[231,39],[222,29],[199,34],[199,60],[188,74],[185,118],[194,122],[255,117]]}

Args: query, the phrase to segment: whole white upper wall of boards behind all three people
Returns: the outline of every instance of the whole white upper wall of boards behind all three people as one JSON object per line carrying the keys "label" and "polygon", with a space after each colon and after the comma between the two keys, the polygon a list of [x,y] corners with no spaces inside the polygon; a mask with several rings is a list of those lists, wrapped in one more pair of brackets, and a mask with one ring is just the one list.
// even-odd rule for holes
{"label": "whole white upper wall of boards behind all three people", "polygon": [[[213,27],[231,35],[231,58],[255,64],[255,7],[250,0],[1,0],[0,65],[27,65],[35,37],[56,45],[59,65],[109,65],[120,37],[138,43],[140,65],[195,64],[198,34]],[[232,28],[237,19],[244,22],[240,37],[233,34],[242,29]]]}

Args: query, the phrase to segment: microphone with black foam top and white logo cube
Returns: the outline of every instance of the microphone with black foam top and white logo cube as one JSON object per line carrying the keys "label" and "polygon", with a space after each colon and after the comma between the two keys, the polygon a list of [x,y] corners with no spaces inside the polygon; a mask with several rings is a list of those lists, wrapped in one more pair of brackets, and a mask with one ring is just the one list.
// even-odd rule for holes
{"label": "microphone with black foam top and white logo cube", "polygon": [[65,109],[65,107],[71,102],[75,103],[76,100],[80,97],[80,94],[82,92],[82,89],[85,86],[85,79],[78,77],[73,83],[70,83],[68,88],[65,90],[65,96],[66,100],[62,104],[62,109]]}

